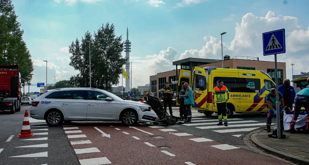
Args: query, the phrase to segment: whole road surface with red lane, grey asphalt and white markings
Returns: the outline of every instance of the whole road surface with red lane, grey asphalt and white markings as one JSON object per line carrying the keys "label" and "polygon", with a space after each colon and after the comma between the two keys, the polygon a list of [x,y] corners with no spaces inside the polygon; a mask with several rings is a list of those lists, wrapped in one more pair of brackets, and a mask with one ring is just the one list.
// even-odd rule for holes
{"label": "whole road surface with red lane, grey asphalt and white markings", "polygon": [[[265,114],[235,114],[228,127],[217,126],[215,114],[207,117],[194,110],[192,123],[172,126],[73,121],[48,127],[44,120],[30,117],[34,137],[18,138],[26,109],[30,106],[0,114],[0,165],[288,164],[244,147],[242,136],[265,127]],[[179,115],[177,111],[173,115]]]}

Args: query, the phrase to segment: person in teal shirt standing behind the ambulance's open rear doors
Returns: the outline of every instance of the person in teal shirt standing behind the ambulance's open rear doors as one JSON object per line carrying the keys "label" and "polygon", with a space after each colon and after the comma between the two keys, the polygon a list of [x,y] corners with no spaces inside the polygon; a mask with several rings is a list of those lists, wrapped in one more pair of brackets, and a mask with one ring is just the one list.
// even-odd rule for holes
{"label": "person in teal shirt standing behind the ambulance's open rear doors", "polygon": [[191,105],[194,105],[193,90],[191,87],[189,87],[189,84],[187,82],[184,83],[184,87],[187,88],[186,94],[180,95],[181,98],[184,98],[184,105],[186,106],[186,112],[187,112],[187,120],[184,122],[191,123],[192,119]]}

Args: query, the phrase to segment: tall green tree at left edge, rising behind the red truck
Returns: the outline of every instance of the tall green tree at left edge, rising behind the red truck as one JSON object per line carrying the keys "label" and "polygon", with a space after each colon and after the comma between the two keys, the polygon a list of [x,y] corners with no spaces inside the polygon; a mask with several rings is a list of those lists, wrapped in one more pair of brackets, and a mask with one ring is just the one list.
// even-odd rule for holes
{"label": "tall green tree at left edge, rising behind the red truck", "polygon": [[0,65],[19,65],[21,77],[30,82],[33,61],[23,41],[23,30],[17,17],[12,1],[0,0]]}

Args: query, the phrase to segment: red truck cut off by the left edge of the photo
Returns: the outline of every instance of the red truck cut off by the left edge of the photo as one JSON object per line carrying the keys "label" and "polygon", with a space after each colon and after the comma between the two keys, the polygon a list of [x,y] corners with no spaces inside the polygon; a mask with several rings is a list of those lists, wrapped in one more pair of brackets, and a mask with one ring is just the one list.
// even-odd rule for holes
{"label": "red truck cut off by the left edge of the photo", "polygon": [[20,111],[22,83],[19,65],[0,65],[0,112]]}

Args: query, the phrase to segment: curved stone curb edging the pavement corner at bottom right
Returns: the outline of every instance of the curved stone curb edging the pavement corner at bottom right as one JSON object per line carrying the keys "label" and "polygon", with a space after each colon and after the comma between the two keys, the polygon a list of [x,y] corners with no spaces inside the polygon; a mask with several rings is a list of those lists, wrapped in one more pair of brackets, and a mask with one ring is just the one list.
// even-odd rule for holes
{"label": "curved stone curb edging the pavement corner at bottom right", "polygon": [[[258,141],[258,144],[256,144],[256,143],[253,141],[252,138],[255,138],[255,139],[256,139],[256,134],[262,132],[262,131],[263,131],[262,129],[263,129],[263,128],[259,128],[259,129],[253,130],[252,132],[249,132],[249,133],[247,133],[247,134],[245,134],[245,135],[243,136],[243,138],[242,138],[243,143],[249,148],[250,151],[255,152],[255,153],[259,153],[259,154],[263,154],[263,155],[267,155],[267,156],[270,156],[270,157],[273,157],[273,158],[275,158],[275,159],[281,160],[282,162],[290,163],[291,165],[296,165],[295,163],[299,163],[299,164],[301,164],[301,165],[308,165],[308,164],[309,164],[309,162],[307,162],[307,163],[306,163],[306,162],[305,162],[305,163],[301,163],[300,161],[295,161],[295,159],[301,158],[301,159],[303,160],[304,158],[299,157],[299,156],[295,156],[295,155],[292,155],[292,154],[290,154],[290,155],[292,155],[293,158],[290,157],[290,159],[282,159],[282,158],[285,158],[285,157],[282,157],[280,154],[278,155],[278,154],[272,153],[272,152],[270,151],[271,149],[269,149],[270,147],[268,147],[268,146],[262,144],[262,143],[259,142],[259,141]],[[257,141],[257,139],[256,139],[256,141]],[[261,146],[259,146],[259,144],[261,144],[262,146],[264,145],[264,148],[261,147]],[[267,149],[269,149],[269,150],[267,150]],[[272,149],[273,149],[273,148],[272,148]],[[273,149],[273,150],[275,150],[275,149]],[[269,152],[269,151],[270,151],[270,152]],[[277,151],[279,151],[279,150],[277,150]],[[282,151],[280,151],[280,152],[282,152]],[[286,153],[286,154],[287,154],[287,153]],[[279,157],[277,157],[277,156],[279,156]],[[287,156],[287,155],[286,155],[286,156]],[[280,157],[281,157],[281,158],[280,158]],[[298,158],[295,158],[295,157],[298,157]],[[300,160],[300,159],[299,159],[299,160]],[[291,161],[292,161],[292,162],[291,162]],[[295,163],[293,163],[293,162],[295,162]]]}

